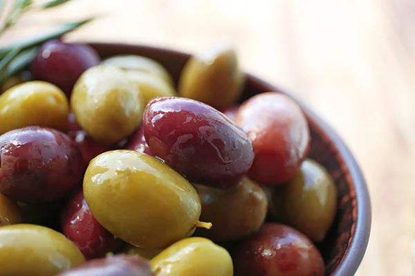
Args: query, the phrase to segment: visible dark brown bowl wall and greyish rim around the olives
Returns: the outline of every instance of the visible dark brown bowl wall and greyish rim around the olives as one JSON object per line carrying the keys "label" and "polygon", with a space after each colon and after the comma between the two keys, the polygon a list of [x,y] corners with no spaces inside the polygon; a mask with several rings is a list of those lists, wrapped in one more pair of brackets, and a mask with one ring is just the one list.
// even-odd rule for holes
{"label": "visible dark brown bowl wall and greyish rim around the olives", "polygon": [[[154,59],[171,73],[177,82],[189,55],[146,46],[90,43],[102,58],[112,55],[143,55]],[[278,88],[248,75],[243,99]],[[286,94],[286,93],[285,93]],[[309,157],[320,162],[338,187],[338,213],[326,239],[317,246],[324,257],[326,275],[353,275],[365,253],[370,230],[370,204],[365,181],[356,161],[333,130],[311,110],[303,108],[311,130]]]}

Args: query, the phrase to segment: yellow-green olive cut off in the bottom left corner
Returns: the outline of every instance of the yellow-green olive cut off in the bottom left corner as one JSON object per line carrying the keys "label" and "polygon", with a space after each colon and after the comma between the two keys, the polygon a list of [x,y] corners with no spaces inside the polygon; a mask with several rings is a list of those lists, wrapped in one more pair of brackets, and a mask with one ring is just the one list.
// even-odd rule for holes
{"label": "yellow-green olive cut off in the bottom left corner", "polygon": [[54,276],[85,261],[64,235],[44,226],[0,227],[1,275]]}

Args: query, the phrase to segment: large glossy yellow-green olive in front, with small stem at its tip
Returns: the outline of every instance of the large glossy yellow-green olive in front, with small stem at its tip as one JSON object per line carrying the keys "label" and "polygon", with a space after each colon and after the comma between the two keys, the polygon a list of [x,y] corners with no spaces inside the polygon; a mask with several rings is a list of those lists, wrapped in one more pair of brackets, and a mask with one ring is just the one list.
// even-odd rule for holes
{"label": "large glossy yellow-green olive in front, with small stem at its tip", "polygon": [[104,228],[142,248],[166,248],[192,235],[201,201],[192,185],[162,161],[133,150],[95,157],[84,197]]}

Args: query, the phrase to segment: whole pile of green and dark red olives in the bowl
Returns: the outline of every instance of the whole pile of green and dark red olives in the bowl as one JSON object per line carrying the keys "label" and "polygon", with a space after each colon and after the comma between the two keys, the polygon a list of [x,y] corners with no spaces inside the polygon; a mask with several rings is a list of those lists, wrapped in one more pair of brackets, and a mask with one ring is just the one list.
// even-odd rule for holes
{"label": "whole pile of green and dark red olives in the bowl", "polygon": [[[320,276],[337,208],[292,99],[232,48],[160,63],[52,40],[0,95],[1,275]],[[219,111],[221,110],[221,111]]]}

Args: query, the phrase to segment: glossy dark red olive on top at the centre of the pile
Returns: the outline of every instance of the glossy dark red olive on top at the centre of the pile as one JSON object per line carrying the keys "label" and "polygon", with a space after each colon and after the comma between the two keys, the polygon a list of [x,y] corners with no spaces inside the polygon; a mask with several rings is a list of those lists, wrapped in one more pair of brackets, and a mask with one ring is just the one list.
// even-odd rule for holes
{"label": "glossy dark red olive on top at the centre of the pile", "polygon": [[252,143],[241,128],[218,110],[192,99],[151,100],[142,128],[154,156],[194,183],[234,186],[254,159]]}

